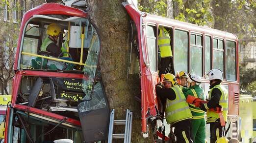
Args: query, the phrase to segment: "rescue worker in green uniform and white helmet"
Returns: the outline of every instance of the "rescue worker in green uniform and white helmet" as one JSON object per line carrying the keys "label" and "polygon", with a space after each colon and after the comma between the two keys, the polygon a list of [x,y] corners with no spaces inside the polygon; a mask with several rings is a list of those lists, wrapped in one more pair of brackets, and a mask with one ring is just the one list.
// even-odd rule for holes
{"label": "rescue worker in green uniform and white helmet", "polygon": [[[194,96],[205,100],[204,89],[200,86],[201,78],[195,74],[188,75],[189,88],[184,93],[187,98],[188,95]],[[189,104],[189,108],[192,113],[192,137],[194,143],[205,143],[205,111],[196,107],[194,104]]]}

